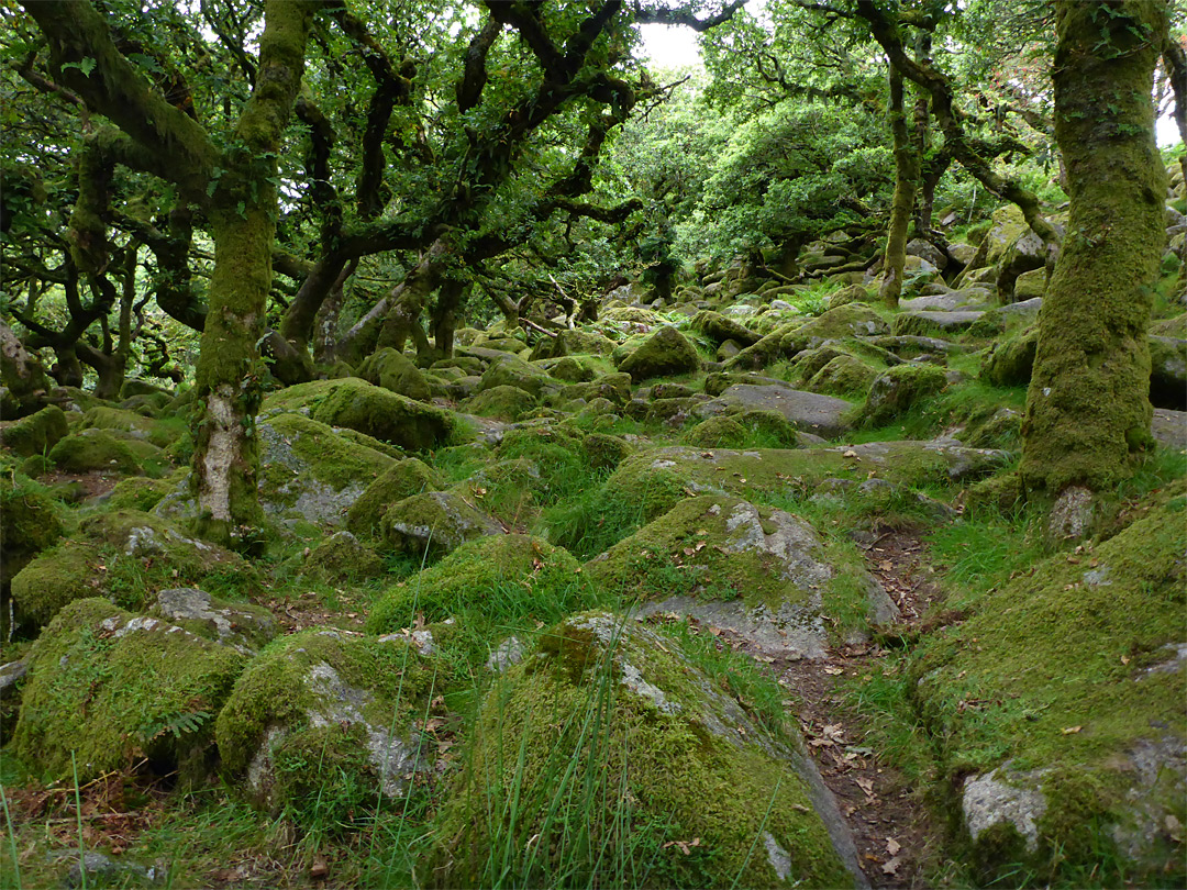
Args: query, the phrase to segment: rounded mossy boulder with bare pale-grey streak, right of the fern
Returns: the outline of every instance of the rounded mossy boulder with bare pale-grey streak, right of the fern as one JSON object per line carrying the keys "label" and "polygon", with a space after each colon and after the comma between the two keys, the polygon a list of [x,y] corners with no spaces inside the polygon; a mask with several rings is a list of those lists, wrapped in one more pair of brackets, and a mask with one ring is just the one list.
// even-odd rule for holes
{"label": "rounded mossy boulder with bare pale-grey streak, right of the fern", "polygon": [[268,812],[349,827],[432,767],[417,718],[447,675],[404,638],[310,630],[261,653],[218,714],[227,776]]}

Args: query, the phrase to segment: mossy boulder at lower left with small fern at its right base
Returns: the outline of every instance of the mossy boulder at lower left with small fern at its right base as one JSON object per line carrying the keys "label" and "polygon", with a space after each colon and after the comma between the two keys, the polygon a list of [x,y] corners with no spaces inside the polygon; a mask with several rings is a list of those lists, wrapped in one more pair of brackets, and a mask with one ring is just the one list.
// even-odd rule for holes
{"label": "mossy boulder at lower left with small fern at its right base", "polygon": [[28,654],[17,755],[87,782],[141,757],[205,776],[214,717],[246,659],[106,599],[58,612]]}

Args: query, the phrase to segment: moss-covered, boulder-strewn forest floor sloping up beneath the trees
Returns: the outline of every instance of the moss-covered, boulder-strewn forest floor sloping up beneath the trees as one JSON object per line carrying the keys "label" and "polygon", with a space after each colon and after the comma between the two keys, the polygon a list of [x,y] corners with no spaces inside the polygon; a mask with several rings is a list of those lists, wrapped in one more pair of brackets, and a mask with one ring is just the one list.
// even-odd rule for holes
{"label": "moss-covered, boulder-strewn forest floor sloping up beneath the trees", "polygon": [[[160,864],[172,886],[766,886],[785,885],[780,856],[788,885],[848,885],[794,757],[690,717],[713,695],[738,708],[740,737],[783,754],[811,739],[825,771],[836,748],[902,782],[933,828],[910,851],[915,885],[1187,881],[1173,755],[1187,739],[1187,459],[1138,456],[1083,539],[1054,542],[1049,501],[1018,484],[1026,388],[1002,358],[1030,322],[908,330],[863,292],[796,285],[777,292],[793,309],[768,309],[754,294],[698,307],[690,290],[680,312],[605,306],[558,338],[563,354],[472,331],[472,350],[424,375],[388,355],[373,382],[278,389],[261,417],[271,525],[249,558],[190,532],[180,415],[83,400],[5,421],[0,661],[33,669],[12,687],[20,706],[0,703],[0,885],[57,884],[70,857],[46,853],[80,835]],[[731,301],[755,312],[726,314]],[[1173,293],[1155,305],[1160,336],[1181,336]],[[718,363],[723,338],[742,351]],[[427,392],[408,384],[420,377]],[[715,401],[770,381],[851,400],[851,431],[820,443]],[[430,494],[483,534],[393,546],[389,510]],[[931,608],[908,597],[877,624],[869,571],[889,577],[887,540],[918,547],[900,580],[926,583]],[[217,646],[214,618],[170,630],[157,595],[188,586],[266,610],[280,635],[250,655]],[[801,726],[811,689],[786,673],[799,655],[755,660],[719,628],[653,616],[627,661],[677,714],[623,686],[572,623],[597,609],[635,628],[640,603],[681,596],[811,606],[827,655],[802,669],[869,659],[837,670],[846,704],[827,705],[863,737]],[[150,614],[161,624],[118,635]],[[369,730],[310,717],[322,666],[342,708],[414,735],[427,768],[396,794]],[[246,778],[264,748],[267,801]],[[1041,784],[1029,848],[1004,824],[967,831],[965,783],[995,769]],[[902,877],[882,871],[899,828],[864,862],[875,884]]]}

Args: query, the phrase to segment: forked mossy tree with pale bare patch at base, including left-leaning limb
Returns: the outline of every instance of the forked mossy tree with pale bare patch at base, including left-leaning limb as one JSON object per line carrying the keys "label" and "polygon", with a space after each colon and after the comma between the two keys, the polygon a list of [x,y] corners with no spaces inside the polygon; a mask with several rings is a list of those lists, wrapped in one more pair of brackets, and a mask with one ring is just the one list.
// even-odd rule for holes
{"label": "forked mossy tree with pale bare patch at base, including left-leaning limb", "polygon": [[[148,84],[116,47],[110,25],[93,4],[24,0],[23,5],[49,42],[55,80],[119,128],[100,131],[102,152],[174,183],[183,199],[201,208],[210,222],[215,269],[208,311],[202,313],[179,290],[189,290],[185,281],[172,288],[186,323],[203,328],[191,476],[201,513],[198,532],[227,542],[241,539],[262,519],[255,489],[254,418],[261,370],[256,344],[272,281],[277,214],[272,183],[318,4],[266,1],[255,85],[226,147],[216,146],[195,119]],[[90,63],[85,72],[84,61]],[[183,237],[169,240],[185,243],[189,221],[179,222]],[[89,237],[95,229],[82,228]],[[157,243],[153,249],[161,247],[167,246]]]}

